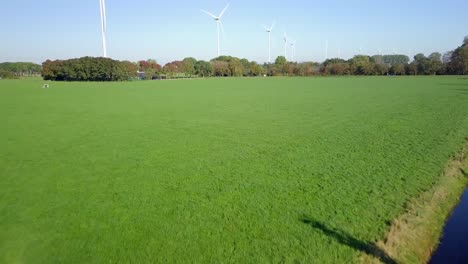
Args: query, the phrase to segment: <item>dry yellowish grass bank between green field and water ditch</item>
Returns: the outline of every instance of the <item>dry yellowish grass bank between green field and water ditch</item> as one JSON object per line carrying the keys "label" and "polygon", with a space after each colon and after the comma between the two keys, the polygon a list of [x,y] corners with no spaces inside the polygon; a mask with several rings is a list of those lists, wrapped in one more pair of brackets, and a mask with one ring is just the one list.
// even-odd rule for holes
{"label": "dry yellowish grass bank between green field and water ditch", "polygon": [[[447,163],[440,179],[428,191],[412,199],[396,218],[385,239],[376,246],[397,263],[427,263],[437,249],[446,220],[457,206],[467,184],[468,138],[462,149]],[[371,254],[362,254],[362,263],[381,263]]]}

